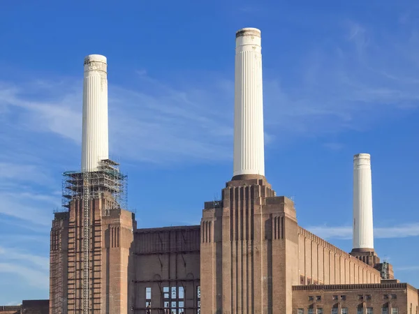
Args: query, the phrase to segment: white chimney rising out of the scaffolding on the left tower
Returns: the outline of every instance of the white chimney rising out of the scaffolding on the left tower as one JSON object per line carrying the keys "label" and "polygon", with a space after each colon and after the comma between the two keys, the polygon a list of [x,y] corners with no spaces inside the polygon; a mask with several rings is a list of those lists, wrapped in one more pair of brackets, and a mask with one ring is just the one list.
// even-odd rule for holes
{"label": "white chimney rising out of the scaffolding on the left tower", "polygon": [[107,68],[100,54],[84,58],[82,172],[96,171],[109,158]]}

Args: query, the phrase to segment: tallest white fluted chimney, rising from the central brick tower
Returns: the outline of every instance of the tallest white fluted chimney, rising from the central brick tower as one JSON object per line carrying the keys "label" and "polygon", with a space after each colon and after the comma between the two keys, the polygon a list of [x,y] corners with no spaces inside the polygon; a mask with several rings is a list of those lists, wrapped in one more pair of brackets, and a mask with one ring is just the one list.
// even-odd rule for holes
{"label": "tallest white fluted chimney, rising from the central brick tower", "polygon": [[236,33],[233,177],[265,175],[260,30]]}

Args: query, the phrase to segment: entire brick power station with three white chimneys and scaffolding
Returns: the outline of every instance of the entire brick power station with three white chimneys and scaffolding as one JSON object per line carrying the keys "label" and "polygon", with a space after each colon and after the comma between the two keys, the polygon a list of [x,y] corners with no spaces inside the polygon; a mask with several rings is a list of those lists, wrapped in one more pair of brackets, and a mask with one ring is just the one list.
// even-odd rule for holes
{"label": "entire brick power station with three white chimneys and scaffolding", "polygon": [[108,156],[107,71],[84,59],[82,167],[64,173],[52,221],[50,314],[419,314],[418,289],[374,251],[369,154],[353,157],[351,253],[298,225],[265,177],[260,30],[235,34],[232,177],[200,225],[137,228]]}

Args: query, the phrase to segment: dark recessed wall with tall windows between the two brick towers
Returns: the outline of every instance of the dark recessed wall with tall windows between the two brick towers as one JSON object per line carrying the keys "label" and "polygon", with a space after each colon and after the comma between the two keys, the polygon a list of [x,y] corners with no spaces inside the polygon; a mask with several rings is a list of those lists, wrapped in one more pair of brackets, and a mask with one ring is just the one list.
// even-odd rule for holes
{"label": "dark recessed wall with tall windows between the two brick towers", "polygon": [[200,226],[140,229],[134,258],[135,313],[145,313],[148,302],[152,313],[182,304],[184,313],[198,313]]}

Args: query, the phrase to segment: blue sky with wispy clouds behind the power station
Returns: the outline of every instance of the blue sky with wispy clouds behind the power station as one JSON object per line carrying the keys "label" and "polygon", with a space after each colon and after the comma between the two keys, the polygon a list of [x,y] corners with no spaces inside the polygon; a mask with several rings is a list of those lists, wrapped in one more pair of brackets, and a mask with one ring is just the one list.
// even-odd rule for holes
{"label": "blue sky with wispy clouds behind the power station", "polygon": [[1,1],[0,304],[48,298],[61,173],[80,168],[84,56],[108,57],[110,155],[139,227],[198,224],[233,174],[242,27],[262,31],[277,195],[351,251],[353,155],[371,154],[376,251],[419,286],[419,6],[290,2]]}

